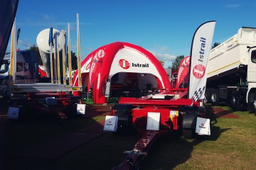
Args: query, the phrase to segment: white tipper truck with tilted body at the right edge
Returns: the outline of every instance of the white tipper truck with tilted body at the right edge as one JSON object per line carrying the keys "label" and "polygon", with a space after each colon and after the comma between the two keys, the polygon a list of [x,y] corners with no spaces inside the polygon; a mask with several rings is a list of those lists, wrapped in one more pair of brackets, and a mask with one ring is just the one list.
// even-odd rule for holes
{"label": "white tipper truck with tilted body at the right edge", "polygon": [[206,101],[256,114],[256,28],[238,33],[210,50]]}

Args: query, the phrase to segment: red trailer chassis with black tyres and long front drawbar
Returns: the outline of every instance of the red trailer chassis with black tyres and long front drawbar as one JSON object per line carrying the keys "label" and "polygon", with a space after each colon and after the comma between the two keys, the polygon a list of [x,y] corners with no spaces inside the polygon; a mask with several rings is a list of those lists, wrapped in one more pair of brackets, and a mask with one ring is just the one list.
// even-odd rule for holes
{"label": "red trailer chassis with black tyres and long front drawbar", "polygon": [[[117,132],[114,134],[132,132],[134,129],[142,134],[134,145],[134,149],[125,151],[124,154],[127,154],[127,157],[113,169],[139,169],[150,147],[161,135],[182,130],[184,138],[196,137],[196,118],[206,118],[205,107],[201,106],[201,101],[193,102],[189,98],[175,98],[173,92],[164,93],[168,96],[165,97],[166,99],[154,100],[149,96],[120,98],[119,103],[113,106],[111,115],[116,115],[118,118]],[[174,94],[183,93],[184,91],[174,92]],[[159,130],[146,130],[149,112],[160,113]]]}

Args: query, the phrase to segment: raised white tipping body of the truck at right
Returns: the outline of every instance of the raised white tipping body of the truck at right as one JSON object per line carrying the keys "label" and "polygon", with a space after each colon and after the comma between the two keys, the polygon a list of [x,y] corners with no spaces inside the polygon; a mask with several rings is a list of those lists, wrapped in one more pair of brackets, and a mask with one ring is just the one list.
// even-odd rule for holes
{"label": "raised white tipping body of the truck at right", "polygon": [[256,28],[240,28],[233,37],[210,50],[207,77],[213,77],[240,64],[247,65],[250,52],[247,46],[256,45]]}

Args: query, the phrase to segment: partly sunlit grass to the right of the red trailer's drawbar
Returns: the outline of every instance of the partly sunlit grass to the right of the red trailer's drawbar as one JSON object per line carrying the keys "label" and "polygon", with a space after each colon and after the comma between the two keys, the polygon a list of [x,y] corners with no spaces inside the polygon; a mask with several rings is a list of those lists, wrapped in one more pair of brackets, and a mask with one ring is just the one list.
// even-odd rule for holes
{"label": "partly sunlit grass to the right of the red trailer's drawbar", "polygon": [[256,117],[235,114],[240,119],[217,118],[206,140],[161,140],[142,169],[255,169]]}

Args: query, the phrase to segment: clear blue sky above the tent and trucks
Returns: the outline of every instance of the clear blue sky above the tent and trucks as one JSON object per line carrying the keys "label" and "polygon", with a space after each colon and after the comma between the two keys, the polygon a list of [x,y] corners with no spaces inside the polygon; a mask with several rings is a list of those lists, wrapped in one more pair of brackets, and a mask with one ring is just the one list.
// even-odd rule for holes
{"label": "clear blue sky above the tent and trucks", "polygon": [[256,27],[255,8],[252,0],[20,0],[18,48],[36,45],[43,29],[68,30],[70,23],[72,51],[77,54],[79,13],[82,60],[98,47],[119,41],[143,47],[168,67],[176,56],[190,55],[193,33],[202,23],[216,21],[213,42],[223,42],[242,26]]}

